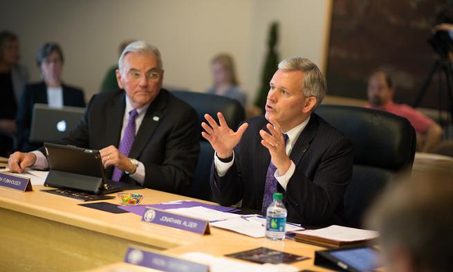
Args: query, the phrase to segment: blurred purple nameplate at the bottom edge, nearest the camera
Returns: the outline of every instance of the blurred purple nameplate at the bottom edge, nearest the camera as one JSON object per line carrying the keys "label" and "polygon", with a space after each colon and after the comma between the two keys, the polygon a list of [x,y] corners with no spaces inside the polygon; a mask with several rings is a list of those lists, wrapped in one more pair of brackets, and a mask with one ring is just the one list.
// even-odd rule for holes
{"label": "blurred purple nameplate at the bottom edge, nearest the camera", "polygon": [[129,246],[124,262],[167,272],[208,272],[209,266],[184,260],[176,256]]}

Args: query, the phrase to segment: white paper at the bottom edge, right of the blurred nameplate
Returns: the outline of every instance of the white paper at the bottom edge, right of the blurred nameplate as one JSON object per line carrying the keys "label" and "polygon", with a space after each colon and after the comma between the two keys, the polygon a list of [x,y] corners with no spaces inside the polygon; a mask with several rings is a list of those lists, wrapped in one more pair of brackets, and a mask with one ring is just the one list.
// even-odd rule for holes
{"label": "white paper at the bottom edge, right of the blurred nameplate", "polygon": [[201,262],[210,266],[211,272],[296,272],[299,269],[289,264],[253,264],[251,262],[239,262],[226,257],[215,257],[210,254],[200,252],[189,252],[183,254],[186,259],[194,262]]}

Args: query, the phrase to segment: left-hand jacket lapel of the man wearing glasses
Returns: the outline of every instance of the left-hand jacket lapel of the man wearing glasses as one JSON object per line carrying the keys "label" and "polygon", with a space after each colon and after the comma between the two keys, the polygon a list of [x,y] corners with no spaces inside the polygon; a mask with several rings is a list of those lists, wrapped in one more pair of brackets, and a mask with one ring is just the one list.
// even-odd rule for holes
{"label": "left-hand jacket lapel of the man wearing glasses", "polygon": [[124,109],[126,108],[126,98],[124,91],[112,100],[110,112],[105,113],[107,124],[106,147],[109,145],[120,146],[120,134],[122,120],[124,118]]}

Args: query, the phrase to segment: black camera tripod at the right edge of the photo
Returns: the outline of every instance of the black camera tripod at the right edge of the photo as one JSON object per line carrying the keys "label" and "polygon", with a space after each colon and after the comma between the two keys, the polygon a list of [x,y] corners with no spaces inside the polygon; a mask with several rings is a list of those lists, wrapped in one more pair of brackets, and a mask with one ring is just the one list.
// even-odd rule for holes
{"label": "black camera tripod at the right edge of the photo", "polygon": [[[439,69],[441,69],[441,71],[439,71]],[[428,74],[428,77],[426,78],[425,82],[423,83],[423,86],[421,87],[420,89],[420,92],[418,93],[418,96],[414,102],[414,104],[412,105],[412,107],[418,107],[418,105],[420,105],[420,101],[422,100],[423,96],[425,96],[426,92],[427,92],[427,89],[429,87],[429,84],[432,82],[432,79],[434,78],[434,75],[436,73],[441,73],[441,75],[443,74],[445,76],[445,82],[447,84],[447,98],[448,98],[448,107],[449,107],[449,114],[450,114],[450,122],[453,121],[453,71],[452,71],[452,62],[450,61],[450,59],[445,56],[445,57],[439,57],[438,60],[436,60],[436,62],[434,62],[434,65],[432,66],[432,69],[431,71],[429,71],[429,74]],[[441,79],[439,78],[439,81]],[[441,121],[441,125],[443,125],[442,123],[442,118],[441,118],[441,102],[442,102],[442,98],[441,98],[441,93],[443,91],[443,88],[441,87],[441,84],[439,84],[439,107],[438,107],[438,111],[439,111],[439,120]],[[445,124],[447,125],[448,122]]]}

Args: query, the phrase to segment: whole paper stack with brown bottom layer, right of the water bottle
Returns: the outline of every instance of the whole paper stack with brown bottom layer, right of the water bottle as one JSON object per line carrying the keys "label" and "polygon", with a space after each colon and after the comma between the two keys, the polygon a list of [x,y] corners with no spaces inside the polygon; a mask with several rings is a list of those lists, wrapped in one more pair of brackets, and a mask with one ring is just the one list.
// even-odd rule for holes
{"label": "whole paper stack with brown bottom layer, right of the water bottle", "polygon": [[375,242],[377,237],[378,233],[373,230],[361,230],[336,225],[317,230],[295,232],[297,242],[316,244],[328,248],[338,248],[351,244],[371,244]]}

